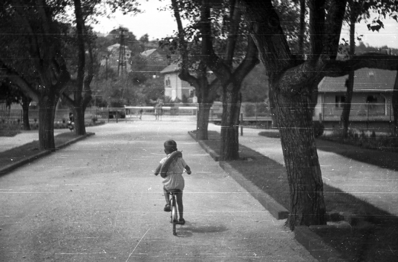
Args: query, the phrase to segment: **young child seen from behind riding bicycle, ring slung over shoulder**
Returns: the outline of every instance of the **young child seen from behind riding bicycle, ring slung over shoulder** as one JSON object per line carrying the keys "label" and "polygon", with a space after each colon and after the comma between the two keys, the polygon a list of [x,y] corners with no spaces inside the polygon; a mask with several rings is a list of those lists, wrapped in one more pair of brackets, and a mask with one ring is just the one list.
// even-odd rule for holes
{"label": "young child seen from behind riding bicycle, ring slung over shoulder", "polygon": [[[173,153],[175,152],[175,153]],[[178,206],[179,220],[178,224],[185,224],[185,220],[183,218],[183,204],[182,204],[182,190],[184,189],[185,182],[182,177],[182,173],[184,173],[184,169],[187,171],[187,174],[191,174],[191,169],[185,163],[182,158],[182,154],[180,151],[177,151],[177,143],[174,140],[167,140],[164,142],[164,153],[166,153],[166,157],[160,160],[160,165],[156,168],[155,175],[160,173],[162,169],[162,165],[169,164],[168,169],[164,173],[160,173],[160,176],[163,178],[163,192],[164,197],[166,198],[166,206],[164,206],[164,211],[170,212],[170,198],[168,191],[179,189],[181,192],[176,194],[176,202]]]}

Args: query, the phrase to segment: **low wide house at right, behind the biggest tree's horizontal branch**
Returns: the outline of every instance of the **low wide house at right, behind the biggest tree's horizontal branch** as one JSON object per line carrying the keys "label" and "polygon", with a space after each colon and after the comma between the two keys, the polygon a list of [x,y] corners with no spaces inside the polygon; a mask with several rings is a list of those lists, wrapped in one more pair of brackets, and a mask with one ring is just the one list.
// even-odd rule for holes
{"label": "low wide house at right, behind the biggest tree's horizontal branch", "polygon": [[[361,68],[355,71],[350,111],[350,127],[358,129],[388,129],[394,119],[392,90],[396,71]],[[318,85],[318,103],[314,120],[324,122],[326,128],[340,126],[345,102],[348,76],[325,77]]]}

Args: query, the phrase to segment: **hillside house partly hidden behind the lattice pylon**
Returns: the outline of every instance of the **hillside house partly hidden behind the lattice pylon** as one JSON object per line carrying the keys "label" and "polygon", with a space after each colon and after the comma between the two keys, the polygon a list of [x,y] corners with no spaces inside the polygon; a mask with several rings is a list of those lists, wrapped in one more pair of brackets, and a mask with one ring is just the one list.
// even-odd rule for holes
{"label": "hillside house partly hidden behind the lattice pylon", "polygon": [[[119,67],[119,59],[123,62],[123,72],[130,72],[131,71],[131,50],[128,49],[126,46],[124,47],[124,57],[119,58],[120,56],[120,44],[114,44],[107,47],[108,55],[104,56],[101,60],[101,66],[106,66],[108,68],[112,68],[114,72],[117,72]],[[119,70],[122,70],[121,67]]]}

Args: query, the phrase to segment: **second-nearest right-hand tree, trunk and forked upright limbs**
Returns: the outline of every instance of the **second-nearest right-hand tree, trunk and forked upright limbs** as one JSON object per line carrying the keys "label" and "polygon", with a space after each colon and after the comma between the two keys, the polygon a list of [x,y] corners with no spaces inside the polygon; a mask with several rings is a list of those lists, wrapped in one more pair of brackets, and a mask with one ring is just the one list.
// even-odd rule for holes
{"label": "second-nearest right-hand tree, trunk and forked upright limbs", "polygon": [[248,38],[246,56],[237,68],[233,66],[236,41],[240,30],[242,11],[237,1],[230,2],[229,28],[226,39],[226,49],[223,58],[215,54],[213,49],[213,33],[211,27],[211,12],[208,0],[202,1],[201,36],[203,41],[202,54],[204,60],[213,70],[222,85],[222,119],[220,159],[232,160],[239,158],[239,115],[242,96],[240,88],[247,74],[259,63],[256,45]]}

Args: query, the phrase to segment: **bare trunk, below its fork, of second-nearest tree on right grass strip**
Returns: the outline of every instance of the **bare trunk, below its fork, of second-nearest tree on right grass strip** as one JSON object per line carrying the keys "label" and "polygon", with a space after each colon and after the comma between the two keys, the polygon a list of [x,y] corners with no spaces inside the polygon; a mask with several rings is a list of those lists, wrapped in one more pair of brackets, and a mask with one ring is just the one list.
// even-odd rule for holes
{"label": "bare trunk, below its fork, of second-nearest tree on right grass strip", "polygon": [[239,159],[240,83],[223,88],[220,160]]}

